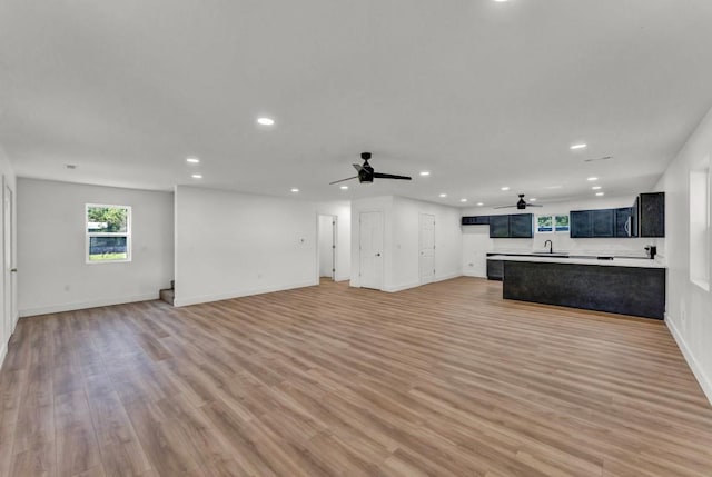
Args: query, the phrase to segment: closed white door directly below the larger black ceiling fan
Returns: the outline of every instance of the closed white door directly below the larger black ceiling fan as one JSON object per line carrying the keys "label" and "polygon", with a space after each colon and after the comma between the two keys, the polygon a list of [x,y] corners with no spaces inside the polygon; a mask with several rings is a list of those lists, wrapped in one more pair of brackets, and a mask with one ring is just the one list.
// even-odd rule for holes
{"label": "closed white door directly below the larger black ceiling fan", "polygon": [[358,217],[360,286],[383,289],[383,215],[360,212]]}

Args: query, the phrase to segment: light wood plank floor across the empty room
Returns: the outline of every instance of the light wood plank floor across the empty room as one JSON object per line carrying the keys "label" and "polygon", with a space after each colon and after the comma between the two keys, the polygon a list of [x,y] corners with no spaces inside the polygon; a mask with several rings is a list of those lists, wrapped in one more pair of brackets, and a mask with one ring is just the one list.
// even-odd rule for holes
{"label": "light wood plank floor across the empty room", "polygon": [[21,319],[2,476],[712,476],[664,325],[458,278]]}

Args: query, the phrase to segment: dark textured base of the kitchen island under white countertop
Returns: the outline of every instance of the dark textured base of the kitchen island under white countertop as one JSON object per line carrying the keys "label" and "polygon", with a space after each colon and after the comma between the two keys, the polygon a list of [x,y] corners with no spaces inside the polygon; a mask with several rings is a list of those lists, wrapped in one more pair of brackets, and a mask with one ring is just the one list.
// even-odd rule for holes
{"label": "dark textured base of the kitchen island under white countertop", "polygon": [[505,299],[663,319],[665,269],[504,262]]}

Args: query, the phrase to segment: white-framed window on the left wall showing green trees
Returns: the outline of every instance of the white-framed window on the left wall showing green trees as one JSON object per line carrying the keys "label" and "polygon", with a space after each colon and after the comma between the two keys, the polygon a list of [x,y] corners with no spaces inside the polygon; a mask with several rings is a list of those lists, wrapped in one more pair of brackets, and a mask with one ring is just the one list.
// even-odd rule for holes
{"label": "white-framed window on the left wall showing green trees", "polygon": [[87,203],[87,262],[131,261],[131,208]]}

